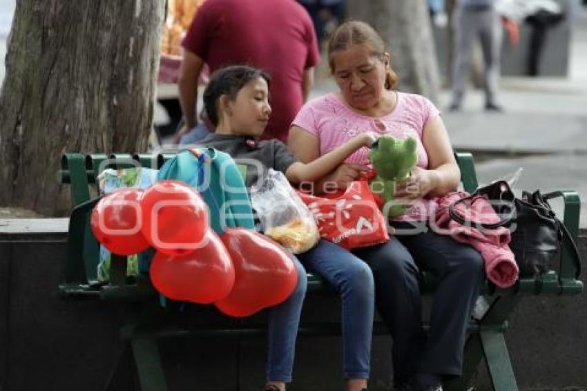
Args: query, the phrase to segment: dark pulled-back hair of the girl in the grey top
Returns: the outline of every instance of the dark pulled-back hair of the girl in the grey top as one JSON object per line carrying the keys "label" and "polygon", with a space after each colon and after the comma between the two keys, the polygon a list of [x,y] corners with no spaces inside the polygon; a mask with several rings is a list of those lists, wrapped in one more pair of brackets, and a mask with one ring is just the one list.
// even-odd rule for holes
{"label": "dark pulled-back hair of the girl in the grey top", "polygon": [[214,126],[218,126],[218,103],[222,95],[234,100],[238,91],[253,79],[262,77],[269,85],[271,77],[262,70],[247,65],[233,65],[216,70],[204,90],[204,110]]}

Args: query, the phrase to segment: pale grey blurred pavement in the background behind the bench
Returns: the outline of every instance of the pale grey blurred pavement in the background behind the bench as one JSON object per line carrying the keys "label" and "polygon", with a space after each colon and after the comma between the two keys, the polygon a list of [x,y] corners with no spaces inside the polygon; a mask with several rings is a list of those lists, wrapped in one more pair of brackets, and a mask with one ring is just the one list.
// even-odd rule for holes
{"label": "pale grey blurred pavement in the background behind the bench", "polygon": [[[0,60],[6,53],[5,39],[0,32]],[[485,113],[479,90],[468,92],[458,113],[443,113],[454,148],[474,153],[481,183],[521,167],[516,189],[578,191],[581,227],[587,227],[587,8],[573,26],[568,77],[503,77],[500,87],[503,113]],[[330,78],[318,77],[312,95],[333,90]],[[441,110],[449,97],[450,91],[443,90],[437,102]],[[164,122],[165,116],[156,108],[157,122]]]}

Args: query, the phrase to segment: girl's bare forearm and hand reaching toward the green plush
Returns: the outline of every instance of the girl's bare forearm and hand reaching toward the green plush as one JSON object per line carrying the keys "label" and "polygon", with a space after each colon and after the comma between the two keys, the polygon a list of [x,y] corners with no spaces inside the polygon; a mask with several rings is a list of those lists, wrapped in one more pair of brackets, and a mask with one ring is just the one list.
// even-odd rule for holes
{"label": "girl's bare forearm and hand reaching toward the green plush", "polygon": [[[300,130],[303,131],[303,130]],[[331,173],[341,163],[345,161],[349,155],[352,155],[356,150],[363,146],[370,147],[376,140],[376,136],[373,133],[362,133],[356,135],[351,140],[345,142],[345,144],[338,146],[338,148],[326,153],[323,156],[315,158],[309,161],[303,149],[300,151],[300,147],[294,148],[294,154],[300,156],[302,162],[291,164],[285,176],[289,182],[298,184],[300,182],[314,182],[325,175]],[[302,152],[302,153],[300,153]],[[305,151],[311,152],[311,151]]]}

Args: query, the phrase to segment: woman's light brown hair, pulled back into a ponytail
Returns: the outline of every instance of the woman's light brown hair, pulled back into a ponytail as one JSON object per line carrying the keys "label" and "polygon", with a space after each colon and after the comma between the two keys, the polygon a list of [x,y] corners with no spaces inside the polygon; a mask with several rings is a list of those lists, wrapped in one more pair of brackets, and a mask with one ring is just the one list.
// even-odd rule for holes
{"label": "woman's light brown hair, pulled back into a ponytail", "polygon": [[[340,50],[347,50],[354,45],[365,45],[372,55],[381,57],[386,52],[385,42],[377,32],[364,21],[349,20],[340,24],[332,33],[328,44],[328,61],[331,72],[334,73],[332,55]],[[385,75],[385,88],[395,88],[398,76],[389,66]]]}

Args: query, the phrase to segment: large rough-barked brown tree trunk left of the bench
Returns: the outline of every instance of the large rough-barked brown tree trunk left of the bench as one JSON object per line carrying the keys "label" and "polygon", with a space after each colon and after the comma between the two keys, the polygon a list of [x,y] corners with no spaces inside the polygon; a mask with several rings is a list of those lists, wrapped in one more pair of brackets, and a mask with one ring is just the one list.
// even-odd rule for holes
{"label": "large rough-barked brown tree trunk left of the bench", "polygon": [[19,0],[0,91],[0,205],[62,212],[66,151],[145,151],[164,0]]}

